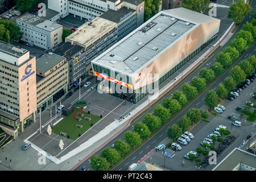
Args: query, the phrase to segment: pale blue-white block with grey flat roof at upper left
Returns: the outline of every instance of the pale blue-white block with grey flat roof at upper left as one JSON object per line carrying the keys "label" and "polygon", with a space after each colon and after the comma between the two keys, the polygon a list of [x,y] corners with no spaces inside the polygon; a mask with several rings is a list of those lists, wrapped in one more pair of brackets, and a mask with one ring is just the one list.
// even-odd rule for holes
{"label": "pale blue-white block with grey flat roof at upper left", "polygon": [[51,49],[62,42],[63,27],[51,19],[25,13],[16,19],[16,24],[23,32],[22,40],[35,46]]}

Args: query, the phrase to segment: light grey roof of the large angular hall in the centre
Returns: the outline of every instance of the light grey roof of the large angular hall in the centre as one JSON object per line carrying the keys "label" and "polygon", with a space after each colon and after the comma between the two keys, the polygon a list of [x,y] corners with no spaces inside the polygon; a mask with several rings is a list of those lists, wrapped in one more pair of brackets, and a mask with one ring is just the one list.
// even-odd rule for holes
{"label": "light grey roof of the large angular hall in the centre", "polygon": [[125,75],[132,74],[145,67],[160,52],[200,23],[215,21],[215,18],[184,8],[160,11],[92,63],[115,69]]}

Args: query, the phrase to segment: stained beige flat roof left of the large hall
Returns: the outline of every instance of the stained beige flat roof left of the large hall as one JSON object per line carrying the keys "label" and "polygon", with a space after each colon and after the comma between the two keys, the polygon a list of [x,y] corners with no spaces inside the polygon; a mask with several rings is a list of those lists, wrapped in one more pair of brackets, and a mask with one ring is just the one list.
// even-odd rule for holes
{"label": "stained beige flat roof left of the large hall", "polygon": [[104,35],[105,32],[109,31],[112,27],[117,26],[117,23],[100,17],[93,19],[91,26],[88,24],[89,22],[82,24],[82,26],[77,28],[77,31],[65,38],[65,42],[73,41],[79,44],[79,46],[86,47],[86,45],[93,42],[94,39]]}

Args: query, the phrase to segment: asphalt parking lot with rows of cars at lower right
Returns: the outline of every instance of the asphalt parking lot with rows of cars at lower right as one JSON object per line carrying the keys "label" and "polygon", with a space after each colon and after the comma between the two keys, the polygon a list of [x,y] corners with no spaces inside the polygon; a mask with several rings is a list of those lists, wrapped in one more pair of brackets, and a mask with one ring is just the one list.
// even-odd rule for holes
{"label": "asphalt parking lot with rows of cars at lower right", "polygon": [[[213,115],[210,115],[210,122],[204,122],[201,121],[195,128],[192,129],[191,133],[195,135],[195,138],[191,140],[191,142],[187,146],[181,146],[181,151],[175,151],[175,156],[173,158],[168,158],[163,155],[163,151],[158,151],[149,156],[146,159],[146,162],[148,163],[154,163],[157,166],[160,166],[162,168],[168,169],[168,170],[211,170],[216,165],[208,165],[206,168],[201,168],[200,166],[196,166],[195,162],[190,162],[189,160],[184,158],[184,155],[187,154],[189,151],[196,151],[197,147],[204,148],[200,144],[201,140],[203,140],[205,137],[207,137],[208,134],[212,133],[214,129],[216,129],[219,125],[226,126],[227,130],[231,131],[230,135],[234,135],[236,137],[236,140],[232,144],[230,144],[224,151],[221,152],[220,155],[217,157],[217,164],[222,159],[225,158],[226,155],[229,154],[230,151],[232,151],[235,147],[239,147],[241,143],[245,142],[248,135],[251,133],[255,133],[256,131],[256,122],[249,122],[246,121],[247,116],[243,114],[243,117],[241,118],[240,122],[242,123],[241,127],[232,125],[232,120],[228,119],[228,116],[231,113],[237,113],[241,114],[239,111],[236,110],[237,106],[243,106],[246,107],[246,109],[253,110],[252,107],[246,106],[246,101],[252,101],[255,103],[255,99],[252,97],[254,92],[256,91],[256,80],[254,82],[251,82],[251,84],[242,91],[241,95],[238,96],[235,100],[229,101],[229,100],[223,100],[221,101],[221,104],[226,107],[225,111],[222,114],[217,114],[216,117]],[[205,109],[203,108],[200,109]],[[163,141],[164,144],[167,144],[170,142],[170,140]],[[217,146],[218,142],[215,142]],[[202,155],[201,155],[202,156]],[[184,160],[185,164],[183,166],[182,161]]]}

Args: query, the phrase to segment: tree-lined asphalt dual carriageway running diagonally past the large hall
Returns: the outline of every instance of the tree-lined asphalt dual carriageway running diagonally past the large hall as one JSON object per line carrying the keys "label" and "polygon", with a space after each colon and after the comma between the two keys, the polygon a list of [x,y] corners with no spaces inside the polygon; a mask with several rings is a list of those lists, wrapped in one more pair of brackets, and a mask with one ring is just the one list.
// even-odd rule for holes
{"label": "tree-lined asphalt dual carriageway running diagonally past the large hall", "polygon": [[[256,6],[256,1],[253,1],[253,5],[252,7]],[[254,14],[255,10],[253,9],[251,14],[246,16],[246,18],[243,20],[243,22],[241,23],[240,27],[237,28],[236,32],[240,31],[242,28],[242,24],[246,23],[247,21],[251,20],[253,18],[253,14]],[[234,36],[229,40],[232,41],[232,39],[234,38]],[[228,42],[228,43],[229,43]],[[218,49],[218,51],[216,51],[211,57],[209,57],[209,59],[207,61],[205,61],[203,64],[201,64],[198,68],[195,69],[195,71],[193,73],[191,73],[191,75],[189,75],[188,77],[186,77],[183,81],[180,82],[180,84],[176,85],[176,88],[174,88],[173,90],[171,90],[171,92],[167,93],[166,96],[162,97],[158,102],[156,102],[155,105],[157,104],[162,104],[163,100],[165,100],[168,97],[171,97],[171,94],[174,93],[176,90],[181,90],[181,87],[183,86],[184,82],[189,82],[192,80],[193,77],[195,76],[199,76],[199,72],[202,68],[210,68],[214,63],[215,63],[215,57],[217,55],[218,52],[221,52],[222,49],[224,49],[226,47],[226,45],[228,45],[228,43],[225,44],[224,47],[221,47],[220,49]],[[254,43],[254,46],[251,47],[249,50],[247,50],[245,53],[243,53],[243,55],[241,56],[240,60],[246,59],[247,57],[249,57],[251,54],[253,54],[255,52],[256,46]],[[231,69],[231,68],[230,68]],[[201,107],[204,105],[204,97],[205,94],[207,93],[207,91],[209,89],[214,89],[217,88],[217,86],[226,78],[229,76],[229,71],[226,71],[224,75],[222,75],[221,77],[218,78],[218,80],[216,80],[215,82],[213,82],[209,88],[207,88],[203,93],[201,93],[201,95],[195,100],[193,101],[189,106],[187,106],[185,109],[183,109],[183,111],[177,115],[175,118],[172,118],[172,121],[177,121],[179,120],[179,118],[183,117],[183,115],[185,115],[189,109],[191,109],[192,107]],[[154,106],[151,107],[150,110],[148,110],[146,113],[142,114],[141,117],[137,118],[134,123],[140,122],[142,121],[142,119],[144,118],[144,116],[147,113],[152,113],[154,111]],[[122,163],[120,163],[117,167],[115,167],[113,170],[114,171],[125,171],[128,169],[128,167],[134,163],[137,162],[139,159],[143,158],[144,155],[146,155],[148,152],[150,152],[152,150],[152,148],[156,147],[156,145],[158,145],[164,138],[167,137],[166,131],[167,128],[171,125],[173,125],[175,122],[170,122],[168,123],[168,125],[164,126],[160,131],[158,131],[157,134],[154,135],[154,137],[148,139],[148,141],[146,143],[143,144],[143,146],[139,147],[136,151],[134,151],[133,154],[131,154],[129,156],[129,158],[123,160]],[[105,147],[107,146],[111,146],[115,140],[118,139],[122,139],[124,134],[126,133],[126,131],[132,130],[132,126],[127,127],[126,130],[124,130],[121,134],[119,134],[115,139],[113,139],[112,141],[110,141],[109,143],[107,143],[105,145]],[[101,150],[98,150],[95,155],[100,155],[101,152],[104,150],[105,147],[102,147]],[[134,162],[133,162],[133,159]],[[85,160],[84,163],[80,164],[76,170],[80,170],[81,168],[86,168],[87,170],[92,170],[92,167],[90,165],[90,159]]]}

